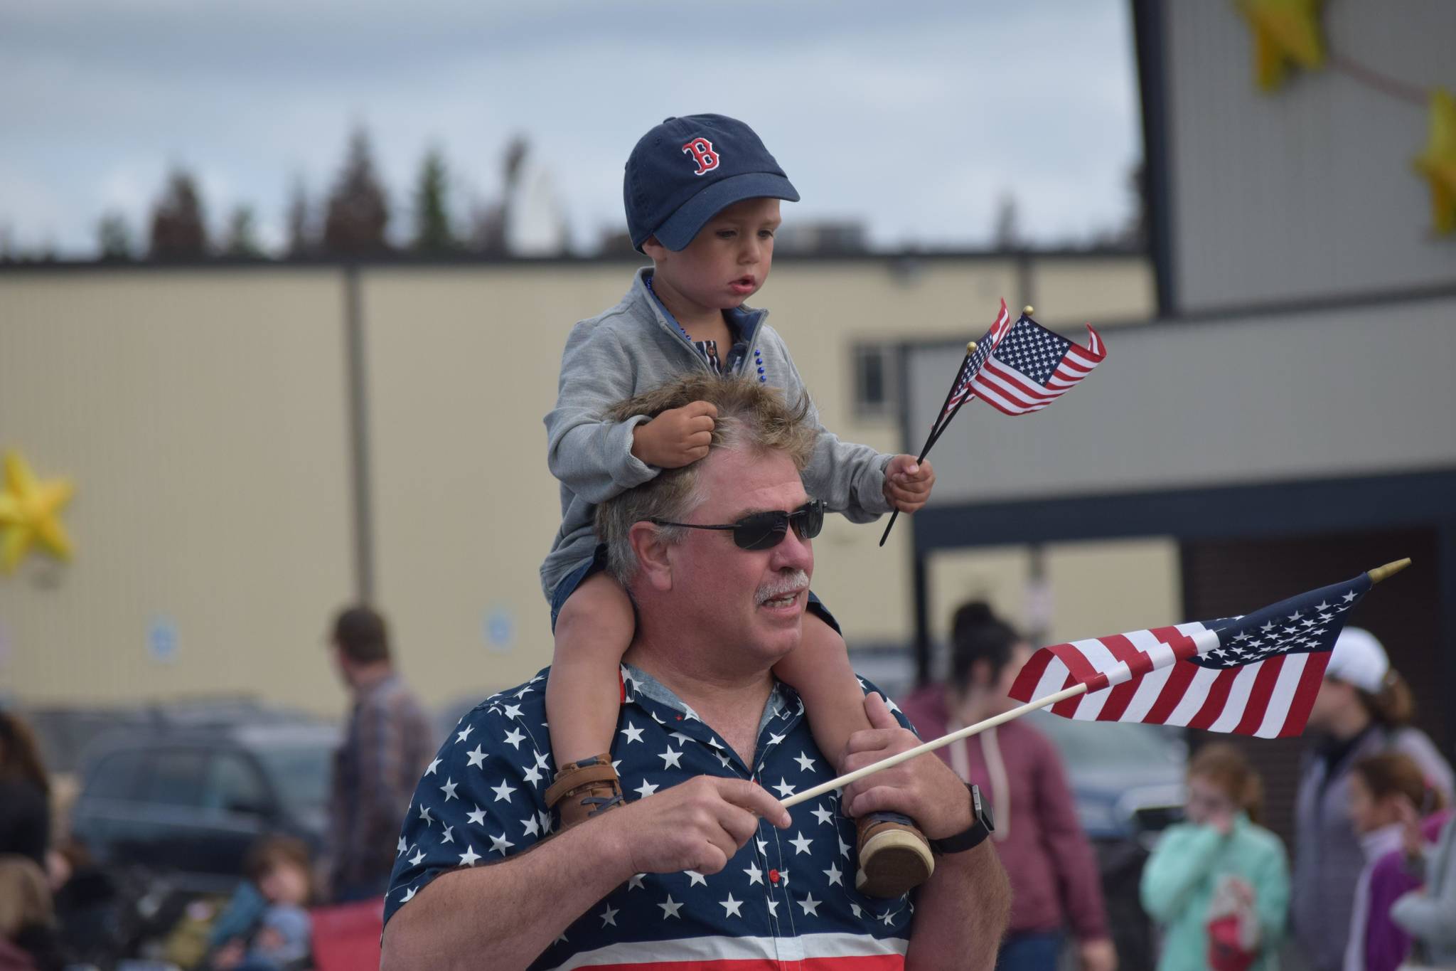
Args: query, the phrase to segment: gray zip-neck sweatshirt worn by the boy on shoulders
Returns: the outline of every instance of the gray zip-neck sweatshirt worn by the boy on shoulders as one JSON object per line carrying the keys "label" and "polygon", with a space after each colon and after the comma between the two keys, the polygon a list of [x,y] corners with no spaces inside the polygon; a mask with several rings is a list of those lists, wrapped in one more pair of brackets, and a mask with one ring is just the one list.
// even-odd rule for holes
{"label": "gray zip-neck sweatshirt worn by the boy on shoulders", "polygon": [[[645,415],[625,422],[603,421],[601,415],[690,368],[711,370],[648,291],[645,278],[651,274],[651,268],[639,269],[622,303],[579,322],[566,338],[556,408],[546,415],[546,461],[561,482],[562,518],[542,563],[547,600],[556,584],[596,552],[597,504],[661,472],[632,454],[632,429],[646,421]],[[769,312],[741,307],[734,316],[748,345],[738,370],[751,376],[761,367],[767,383],[783,389],[791,400],[804,392],[804,379],[783,338],[764,323]],[[891,456],[840,441],[818,424],[817,409],[810,419],[818,427],[818,443],[804,470],[804,489],[852,523],[871,523],[888,512],[884,483]]]}

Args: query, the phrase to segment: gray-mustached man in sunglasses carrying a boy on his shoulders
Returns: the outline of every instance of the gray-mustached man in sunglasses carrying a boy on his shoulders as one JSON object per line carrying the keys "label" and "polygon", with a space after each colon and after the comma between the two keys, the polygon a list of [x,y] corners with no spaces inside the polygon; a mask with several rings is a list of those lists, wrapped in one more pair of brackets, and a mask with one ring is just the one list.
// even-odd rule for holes
{"label": "gray-mustached man in sunglasses carrying a boy on his shoulders", "polygon": [[[834,774],[798,696],[772,674],[798,646],[823,523],[799,477],[814,431],[802,402],[716,376],[622,408],[692,400],[718,411],[708,457],[597,518],[638,613],[612,751],[626,805],[545,839],[546,673],[483,702],[416,789],[386,898],[384,968],[994,962],[1006,876],[981,846],[990,820],[942,761],[780,806]],[[850,738],[850,767],[917,744],[871,686],[865,713],[872,728]],[[862,895],[846,876],[855,818],[877,811],[914,815],[939,855],[910,898]]]}

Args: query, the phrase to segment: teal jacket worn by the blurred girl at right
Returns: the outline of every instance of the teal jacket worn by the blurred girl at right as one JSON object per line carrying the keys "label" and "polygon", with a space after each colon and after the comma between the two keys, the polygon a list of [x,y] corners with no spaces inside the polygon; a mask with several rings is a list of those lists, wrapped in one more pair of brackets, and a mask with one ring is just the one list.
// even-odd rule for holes
{"label": "teal jacket worn by the blurred girl at right", "polygon": [[1163,929],[1159,971],[1208,967],[1208,904],[1224,873],[1254,888],[1262,946],[1252,971],[1277,971],[1289,916],[1289,863],[1280,839],[1242,812],[1229,836],[1191,823],[1169,827],[1143,866],[1143,910]]}

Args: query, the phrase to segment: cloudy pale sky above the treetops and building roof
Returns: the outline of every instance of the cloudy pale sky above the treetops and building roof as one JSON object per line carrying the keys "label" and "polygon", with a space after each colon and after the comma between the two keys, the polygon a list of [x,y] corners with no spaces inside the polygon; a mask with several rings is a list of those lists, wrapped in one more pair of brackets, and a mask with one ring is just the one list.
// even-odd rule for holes
{"label": "cloudy pale sky above the treetops and building roof", "polygon": [[622,226],[622,165],[667,115],[750,122],[804,201],[881,247],[978,246],[1012,194],[1032,242],[1123,223],[1140,157],[1125,0],[0,0],[0,227],[95,252],[134,231],[173,165],[208,221],[319,197],[364,124],[392,229],[430,146],[460,210],[499,192],[524,134],[590,247]]}

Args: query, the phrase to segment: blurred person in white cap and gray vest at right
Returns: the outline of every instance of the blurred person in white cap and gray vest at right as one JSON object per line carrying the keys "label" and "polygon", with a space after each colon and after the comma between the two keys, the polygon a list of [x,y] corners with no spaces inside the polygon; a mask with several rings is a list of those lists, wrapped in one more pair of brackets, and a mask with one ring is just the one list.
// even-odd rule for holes
{"label": "blurred person in white cap and gray vest at right", "polygon": [[1450,802],[1452,767],[1436,744],[1411,726],[1411,689],[1369,630],[1345,627],[1309,712],[1315,745],[1305,753],[1294,804],[1294,939],[1312,971],[1342,967],[1364,868],[1360,834],[1350,818],[1350,774],[1367,756],[1405,753],[1433,789]]}

